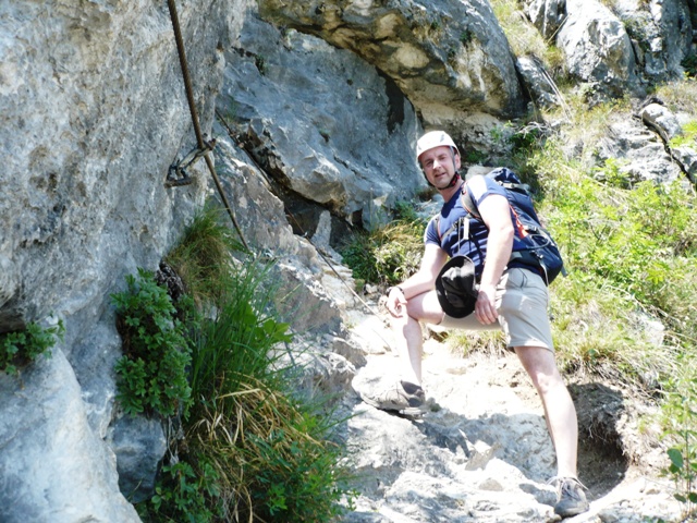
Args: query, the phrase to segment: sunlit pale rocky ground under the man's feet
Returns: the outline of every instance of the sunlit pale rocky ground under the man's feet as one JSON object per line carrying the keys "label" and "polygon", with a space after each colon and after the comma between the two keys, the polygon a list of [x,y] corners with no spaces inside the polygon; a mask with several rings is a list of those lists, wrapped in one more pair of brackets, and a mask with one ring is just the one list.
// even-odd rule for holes
{"label": "sunlit pale rocky ground under the man's feet", "polygon": [[[390,379],[396,367],[386,318],[364,311],[347,313],[352,342],[367,362],[357,368],[354,390]],[[536,391],[517,358],[503,352],[467,357],[455,352],[438,337],[426,341],[424,386],[432,408],[420,418],[379,411],[357,393],[345,398],[352,417],[344,438],[360,496],[344,522],[559,520],[553,488],[547,485],[555,473],[551,440]],[[623,427],[617,437],[632,439],[627,427],[635,425],[626,418],[636,409],[616,409],[622,394],[602,384],[570,384],[570,390],[578,409],[579,478],[588,488],[590,511],[566,521],[681,521],[673,485],[657,472],[660,453],[647,450],[646,459],[628,459],[626,449],[640,453],[636,445],[590,439],[589,424],[601,411],[606,417],[622,416],[624,424],[615,419]],[[588,400],[591,392],[604,398],[600,405]]]}

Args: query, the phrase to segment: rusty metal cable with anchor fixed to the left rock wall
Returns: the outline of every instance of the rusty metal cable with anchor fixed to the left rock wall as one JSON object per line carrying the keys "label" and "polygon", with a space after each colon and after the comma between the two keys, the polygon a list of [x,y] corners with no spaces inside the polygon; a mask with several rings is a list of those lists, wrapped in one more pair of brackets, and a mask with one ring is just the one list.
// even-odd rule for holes
{"label": "rusty metal cable with anchor fixed to the left rock wall", "polygon": [[[184,88],[186,90],[186,100],[188,102],[188,110],[192,114],[192,123],[194,124],[194,132],[196,133],[196,143],[198,147],[194,151],[186,155],[186,158],[188,158],[192,154],[193,154],[193,157],[191,158],[191,161],[188,163],[183,166],[181,171],[178,171],[178,168],[174,168],[174,173],[173,173],[172,167],[170,167],[166,186],[181,186],[181,185],[187,185],[188,183],[191,183],[188,175],[183,169],[191,166],[194,161],[196,161],[198,158],[203,156],[204,159],[206,160],[206,165],[208,166],[208,170],[210,171],[210,174],[213,178],[213,182],[216,183],[216,188],[218,190],[218,194],[220,195],[220,198],[222,199],[222,203],[225,206],[225,210],[228,211],[228,215],[230,215],[232,224],[237,231],[237,234],[240,235],[240,240],[242,241],[242,244],[245,246],[245,248],[249,250],[249,246],[247,245],[247,242],[244,239],[244,234],[242,234],[242,230],[240,229],[237,220],[235,219],[235,215],[232,212],[232,207],[230,207],[230,204],[228,203],[228,197],[225,196],[225,193],[222,190],[222,185],[220,184],[220,180],[218,179],[218,174],[216,173],[216,168],[213,166],[213,162],[210,159],[209,153],[212,150],[212,147],[215,146],[215,142],[212,142],[211,144],[210,142],[207,143],[206,141],[204,141],[204,135],[201,134],[201,131],[200,131],[200,125],[198,123],[198,114],[196,112],[196,102],[194,100],[194,90],[192,89],[192,81],[188,74],[188,65],[186,62],[186,52],[184,50],[184,40],[182,38],[182,31],[179,24],[179,15],[176,14],[176,5],[174,4],[174,0],[167,0],[167,5],[170,10],[170,19],[172,20],[172,28],[174,29],[174,39],[176,40],[176,52],[179,54],[179,62],[182,68],[182,76],[184,77]],[[182,160],[180,163],[184,163],[184,160]],[[168,185],[168,182],[170,183],[169,185]]]}

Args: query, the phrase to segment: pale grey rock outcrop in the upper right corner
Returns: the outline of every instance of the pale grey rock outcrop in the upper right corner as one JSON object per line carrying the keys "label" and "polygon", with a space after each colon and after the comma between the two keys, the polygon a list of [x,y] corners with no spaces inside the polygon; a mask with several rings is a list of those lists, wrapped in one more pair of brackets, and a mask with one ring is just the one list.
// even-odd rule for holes
{"label": "pale grey rock outcrop in the upper right corner", "polygon": [[525,0],[523,7],[564,51],[568,72],[601,95],[638,95],[647,82],[680,78],[693,52],[690,2]]}

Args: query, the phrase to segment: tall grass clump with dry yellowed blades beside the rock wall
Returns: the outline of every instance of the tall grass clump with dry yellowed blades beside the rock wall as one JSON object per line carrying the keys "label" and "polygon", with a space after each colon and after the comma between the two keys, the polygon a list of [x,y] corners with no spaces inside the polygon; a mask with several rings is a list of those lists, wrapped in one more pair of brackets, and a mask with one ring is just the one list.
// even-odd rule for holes
{"label": "tall grass clump with dry yellowed blades beside the rock wall", "polygon": [[332,412],[320,397],[298,396],[297,369],[280,360],[292,337],[274,316],[271,266],[220,256],[221,277],[196,268],[203,258],[185,242],[180,247],[187,273],[217,273],[218,291],[199,302],[205,317],[188,316],[192,401],[171,442],[176,458],[138,513],[145,522],[329,521],[351,499],[350,474],[331,442]]}

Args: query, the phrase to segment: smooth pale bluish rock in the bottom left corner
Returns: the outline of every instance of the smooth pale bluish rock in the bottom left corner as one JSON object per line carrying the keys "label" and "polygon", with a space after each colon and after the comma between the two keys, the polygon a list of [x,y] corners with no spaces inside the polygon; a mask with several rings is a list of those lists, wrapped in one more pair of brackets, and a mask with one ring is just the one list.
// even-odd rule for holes
{"label": "smooth pale bluish rock in the bottom left corner", "polygon": [[87,422],[60,349],[20,377],[0,374],[0,520],[139,522],[114,457]]}

